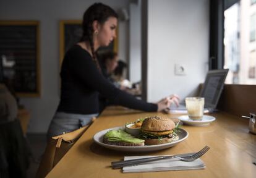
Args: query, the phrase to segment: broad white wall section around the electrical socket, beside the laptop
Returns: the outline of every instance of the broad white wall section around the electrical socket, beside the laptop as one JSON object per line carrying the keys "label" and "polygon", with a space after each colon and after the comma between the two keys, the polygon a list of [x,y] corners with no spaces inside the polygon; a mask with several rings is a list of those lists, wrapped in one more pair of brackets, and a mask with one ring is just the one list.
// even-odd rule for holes
{"label": "broad white wall section around the electrical socket, beside the laptop", "polygon": [[[148,0],[147,100],[171,93],[184,98],[203,82],[208,70],[208,0]],[[174,75],[184,64],[187,75]]]}

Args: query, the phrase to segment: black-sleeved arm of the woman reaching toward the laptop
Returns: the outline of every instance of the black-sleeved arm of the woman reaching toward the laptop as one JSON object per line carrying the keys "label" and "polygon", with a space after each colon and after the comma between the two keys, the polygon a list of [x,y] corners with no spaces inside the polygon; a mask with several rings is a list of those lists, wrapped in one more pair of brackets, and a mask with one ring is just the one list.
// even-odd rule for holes
{"label": "black-sleeved arm of the woman reaching toward the laptop", "polygon": [[98,91],[114,103],[126,106],[127,108],[158,111],[157,104],[137,100],[134,96],[114,87],[112,83],[100,74],[95,63],[92,61],[92,57],[86,51],[80,49],[75,52],[77,53],[73,53],[70,58],[72,60],[69,60],[70,69],[74,77],[81,81],[86,88]]}

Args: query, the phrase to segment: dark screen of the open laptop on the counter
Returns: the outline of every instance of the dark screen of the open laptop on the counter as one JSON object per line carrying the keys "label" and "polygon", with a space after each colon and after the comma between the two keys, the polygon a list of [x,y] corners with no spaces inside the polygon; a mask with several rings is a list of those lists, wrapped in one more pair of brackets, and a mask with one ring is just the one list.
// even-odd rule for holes
{"label": "dark screen of the open laptop on the counter", "polygon": [[216,108],[227,74],[228,69],[208,71],[200,93],[200,96],[205,98],[205,108]]}

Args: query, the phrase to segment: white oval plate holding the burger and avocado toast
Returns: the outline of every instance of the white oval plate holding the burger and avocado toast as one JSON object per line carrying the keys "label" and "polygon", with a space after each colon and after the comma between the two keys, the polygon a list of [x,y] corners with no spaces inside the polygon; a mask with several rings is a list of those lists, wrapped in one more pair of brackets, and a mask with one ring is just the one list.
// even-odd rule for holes
{"label": "white oval plate holding the burger and avocado toast", "polygon": [[140,151],[163,150],[165,148],[174,146],[177,143],[182,142],[187,137],[189,137],[189,133],[186,130],[179,128],[179,132],[177,132],[177,135],[179,135],[179,140],[176,140],[175,142],[171,142],[171,143],[164,143],[161,145],[117,146],[117,145],[108,145],[106,143],[103,143],[103,137],[106,134],[106,132],[108,132],[109,130],[118,130],[118,129],[124,129],[124,127],[114,127],[111,129],[102,130],[93,136],[93,140],[94,142],[98,143],[98,145],[101,145],[105,148],[109,148],[111,150],[140,152]]}

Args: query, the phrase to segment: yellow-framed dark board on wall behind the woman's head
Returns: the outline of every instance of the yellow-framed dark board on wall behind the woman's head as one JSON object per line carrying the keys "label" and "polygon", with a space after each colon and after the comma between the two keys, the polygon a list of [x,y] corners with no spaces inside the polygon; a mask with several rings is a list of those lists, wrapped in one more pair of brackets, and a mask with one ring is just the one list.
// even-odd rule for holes
{"label": "yellow-framed dark board on wall behind the woman's head", "polygon": [[[118,32],[118,29],[116,30]],[[82,37],[82,20],[61,20],[59,22],[59,64],[61,66],[62,60],[65,53],[73,45],[79,42]],[[118,36],[118,35],[117,35]],[[98,51],[103,51],[111,49],[117,53],[118,38],[115,38],[114,41],[109,46],[98,49]]]}

